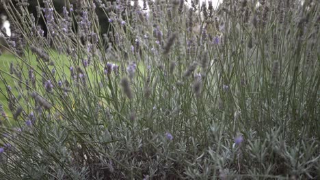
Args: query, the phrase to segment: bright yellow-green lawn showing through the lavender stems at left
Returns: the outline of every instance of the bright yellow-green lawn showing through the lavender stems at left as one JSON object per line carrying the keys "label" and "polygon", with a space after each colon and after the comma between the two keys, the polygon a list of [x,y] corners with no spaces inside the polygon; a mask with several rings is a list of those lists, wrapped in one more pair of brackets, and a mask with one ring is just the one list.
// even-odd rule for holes
{"label": "bright yellow-green lawn showing through the lavender stems at left", "polygon": [[[70,66],[76,67],[79,64],[79,62],[72,62],[66,55],[59,55],[55,50],[50,50],[51,53],[51,61],[54,62],[54,65],[46,65],[41,64],[40,62],[36,61],[36,56],[33,55],[32,52],[26,53],[27,57],[24,59],[19,59],[14,57],[14,55],[10,53],[3,53],[3,55],[0,56],[0,104],[2,104],[6,114],[8,115],[9,119],[12,117],[12,113],[10,112],[8,108],[8,92],[5,83],[12,87],[12,93],[16,97],[18,97],[18,90],[15,87],[18,87],[18,78],[15,74],[10,74],[10,63],[12,62],[14,64],[14,67],[16,70],[22,70],[22,76],[27,77],[28,76],[28,70],[30,67],[27,66],[30,65],[34,69],[34,74],[36,76],[36,85],[41,85],[42,83],[42,70],[46,70],[51,72],[53,67],[55,67],[56,73],[55,73],[55,80],[63,80],[70,78]],[[27,60],[25,60],[27,59]],[[27,62],[25,62],[27,61]],[[72,65],[73,64],[73,65]],[[144,70],[144,67],[142,65],[139,66],[139,69]],[[88,74],[88,79],[92,80],[90,81],[91,85],[94,85],[96,81],[100,81],[101,77],[96,76],[96,73],[103,71],[103,64],[101,63],[98,65],[98,70],[96,70],[92,65],[88,68],[86,68],[86,73]],[[144,72],[140,72],[144,74]],[[94,78],[97,77],[97,78]],[[26,79],[26,78],[23,78]],[[25,82],[22,83],[23,89],[25,87]],[[21,90],[20,90],[21,91]],[[104,90],[103,90],[104,91]],[[26,95],[26,91],[23,91],[23,93]],[[21,106],[25,107],[25,104],[23,103],[23,100],[21,100]]]}

